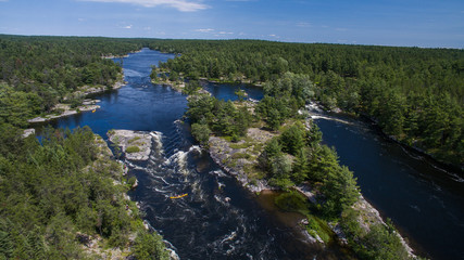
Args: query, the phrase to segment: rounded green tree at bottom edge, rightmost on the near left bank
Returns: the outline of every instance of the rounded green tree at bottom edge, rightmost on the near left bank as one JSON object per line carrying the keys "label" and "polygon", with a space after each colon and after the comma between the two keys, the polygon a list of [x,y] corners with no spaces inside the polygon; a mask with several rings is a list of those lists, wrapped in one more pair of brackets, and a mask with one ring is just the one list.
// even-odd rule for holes
{"label": "rounded green tree at bottom edge, rightmost on the near left bank", "polygon": [[137,259],[168,260],[163,238],[156,233],[139,232],[135,245],[134,256]]}

